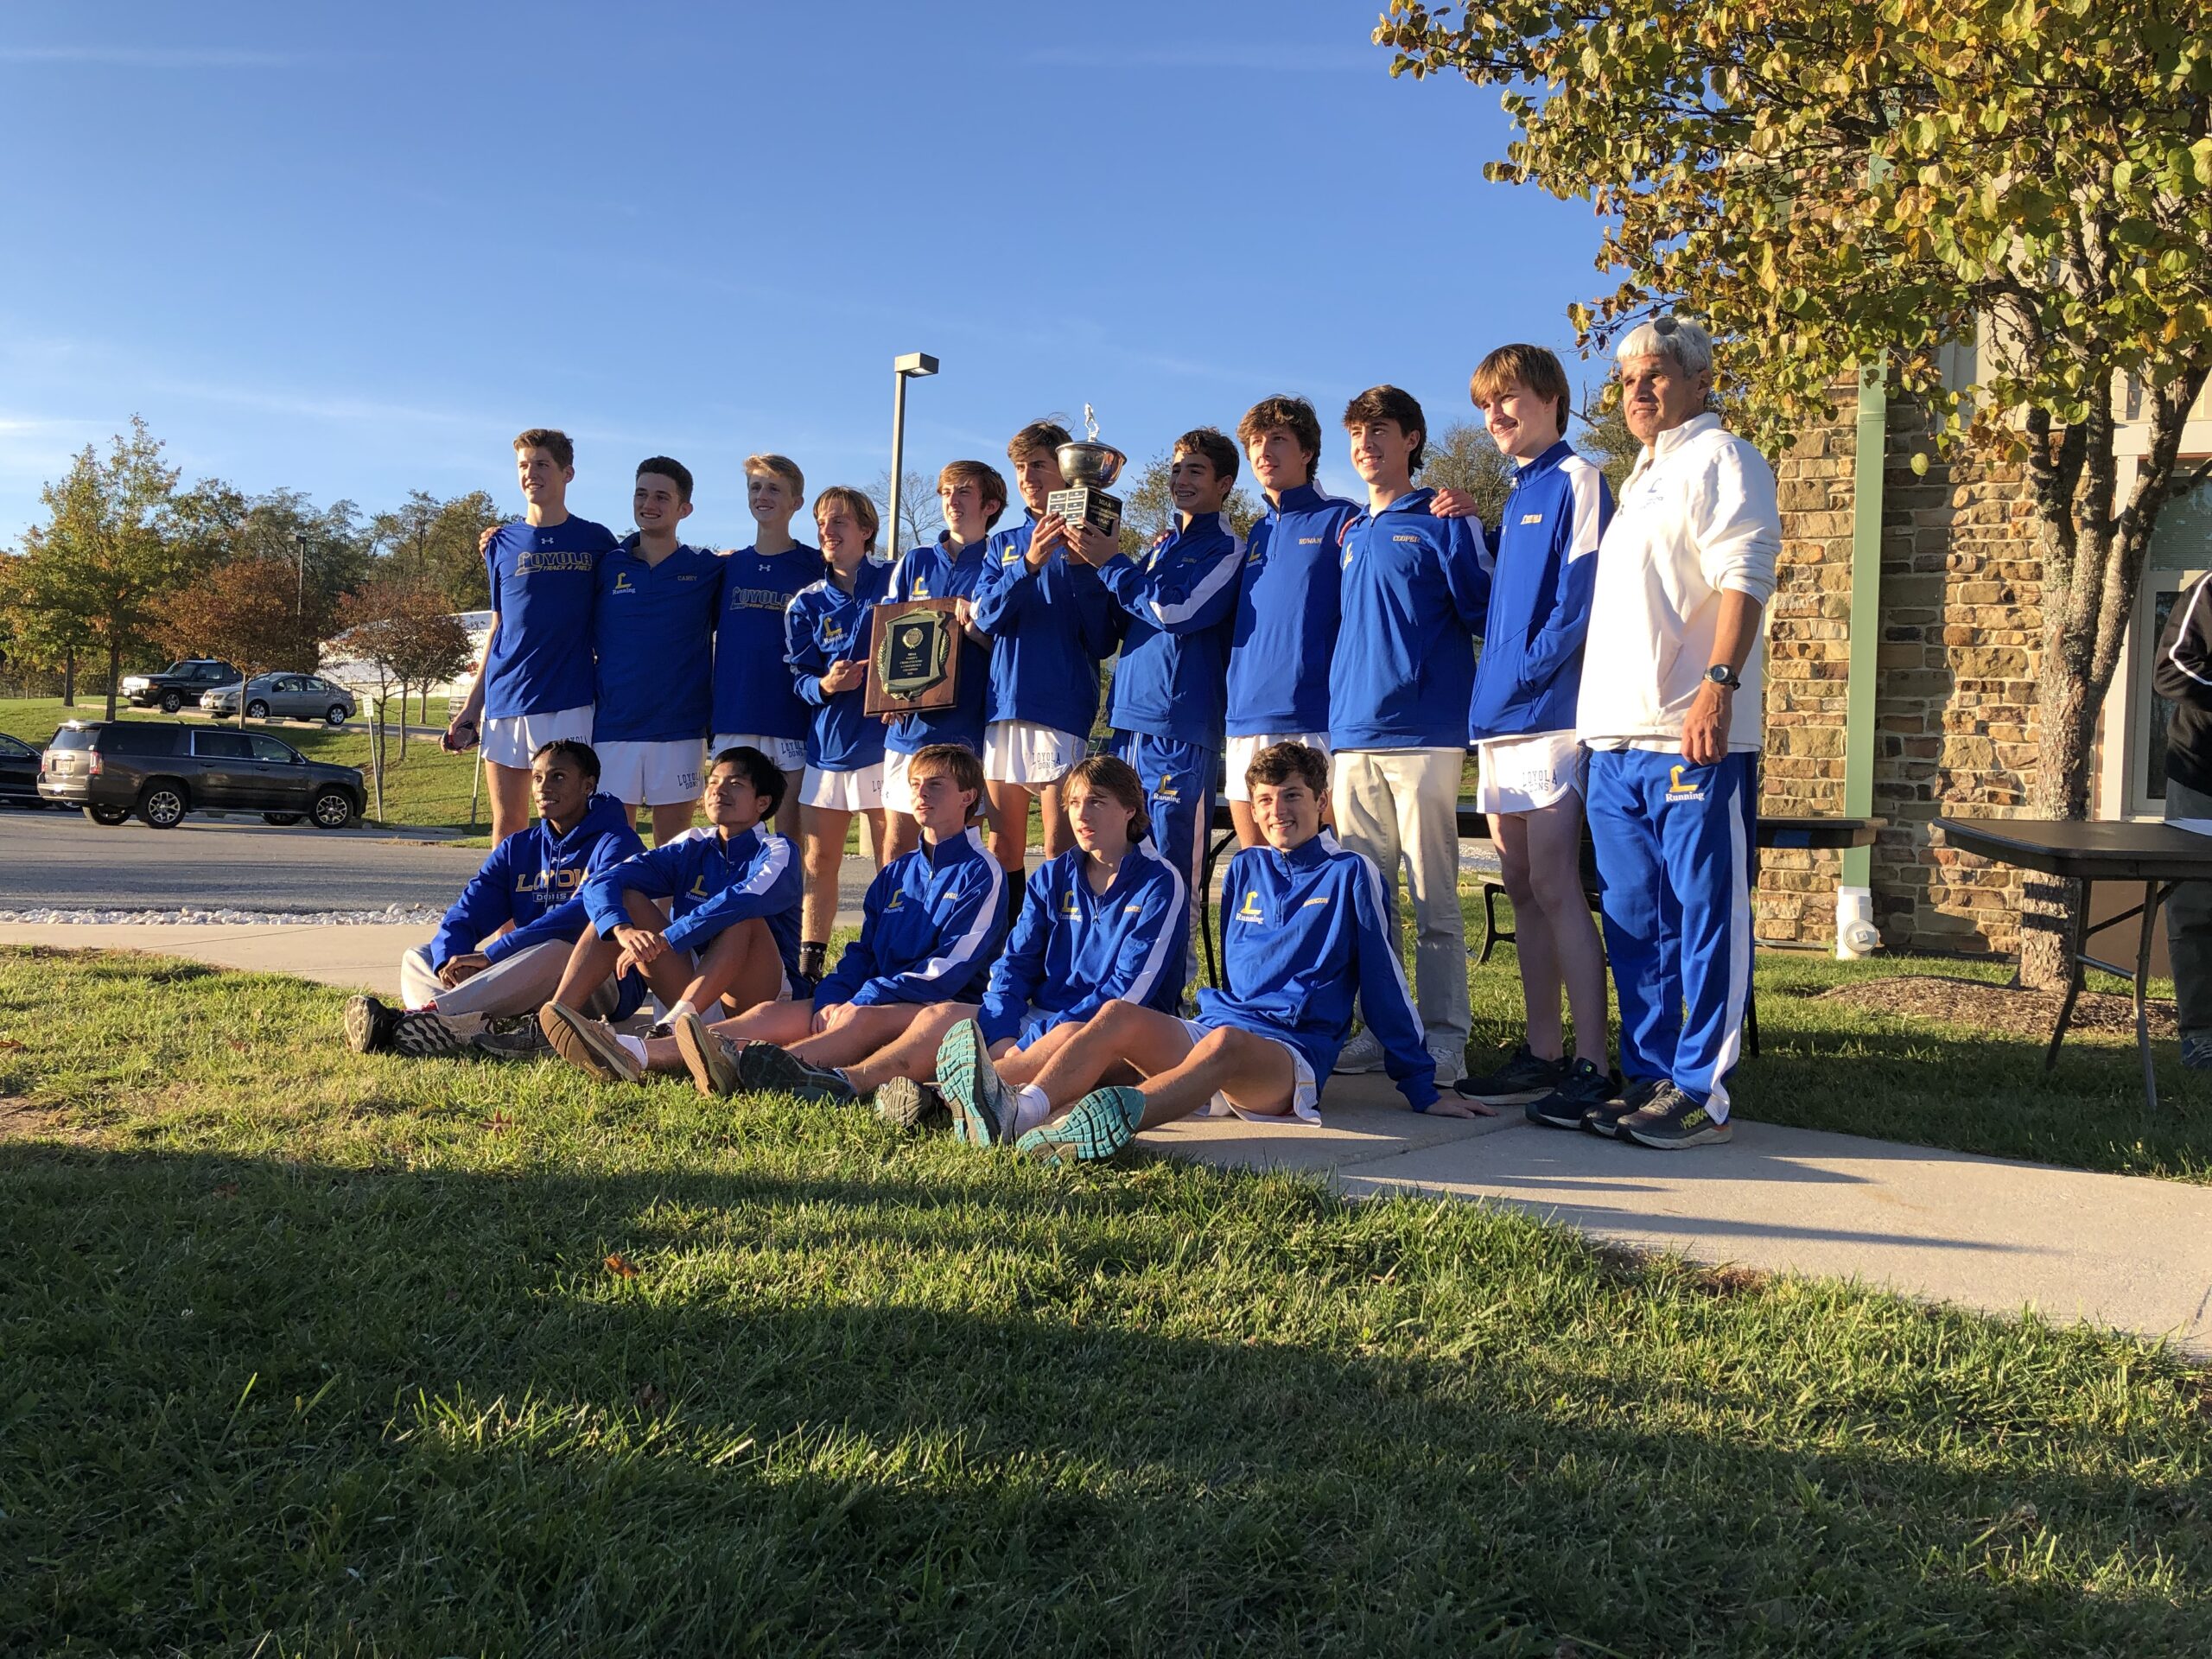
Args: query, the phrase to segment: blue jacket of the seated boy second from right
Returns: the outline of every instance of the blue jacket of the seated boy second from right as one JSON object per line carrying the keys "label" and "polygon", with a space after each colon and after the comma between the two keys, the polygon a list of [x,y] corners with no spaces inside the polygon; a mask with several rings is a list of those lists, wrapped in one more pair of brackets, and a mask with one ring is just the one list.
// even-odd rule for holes
{"label": "blue jacket of the seated boy second from right", "polygon": [[1022,918],[991,964],[975,1015],[984,1042],[1018,1037],[1026,1046],[1115,998],[1175,1013],[1183,995],[1181,951],[1172,949],[1183,878],[1150,841],[1121,854],[1104,894],[1091,891],[1086,863],[1088,854],[1071,847],[1029,878]]}

